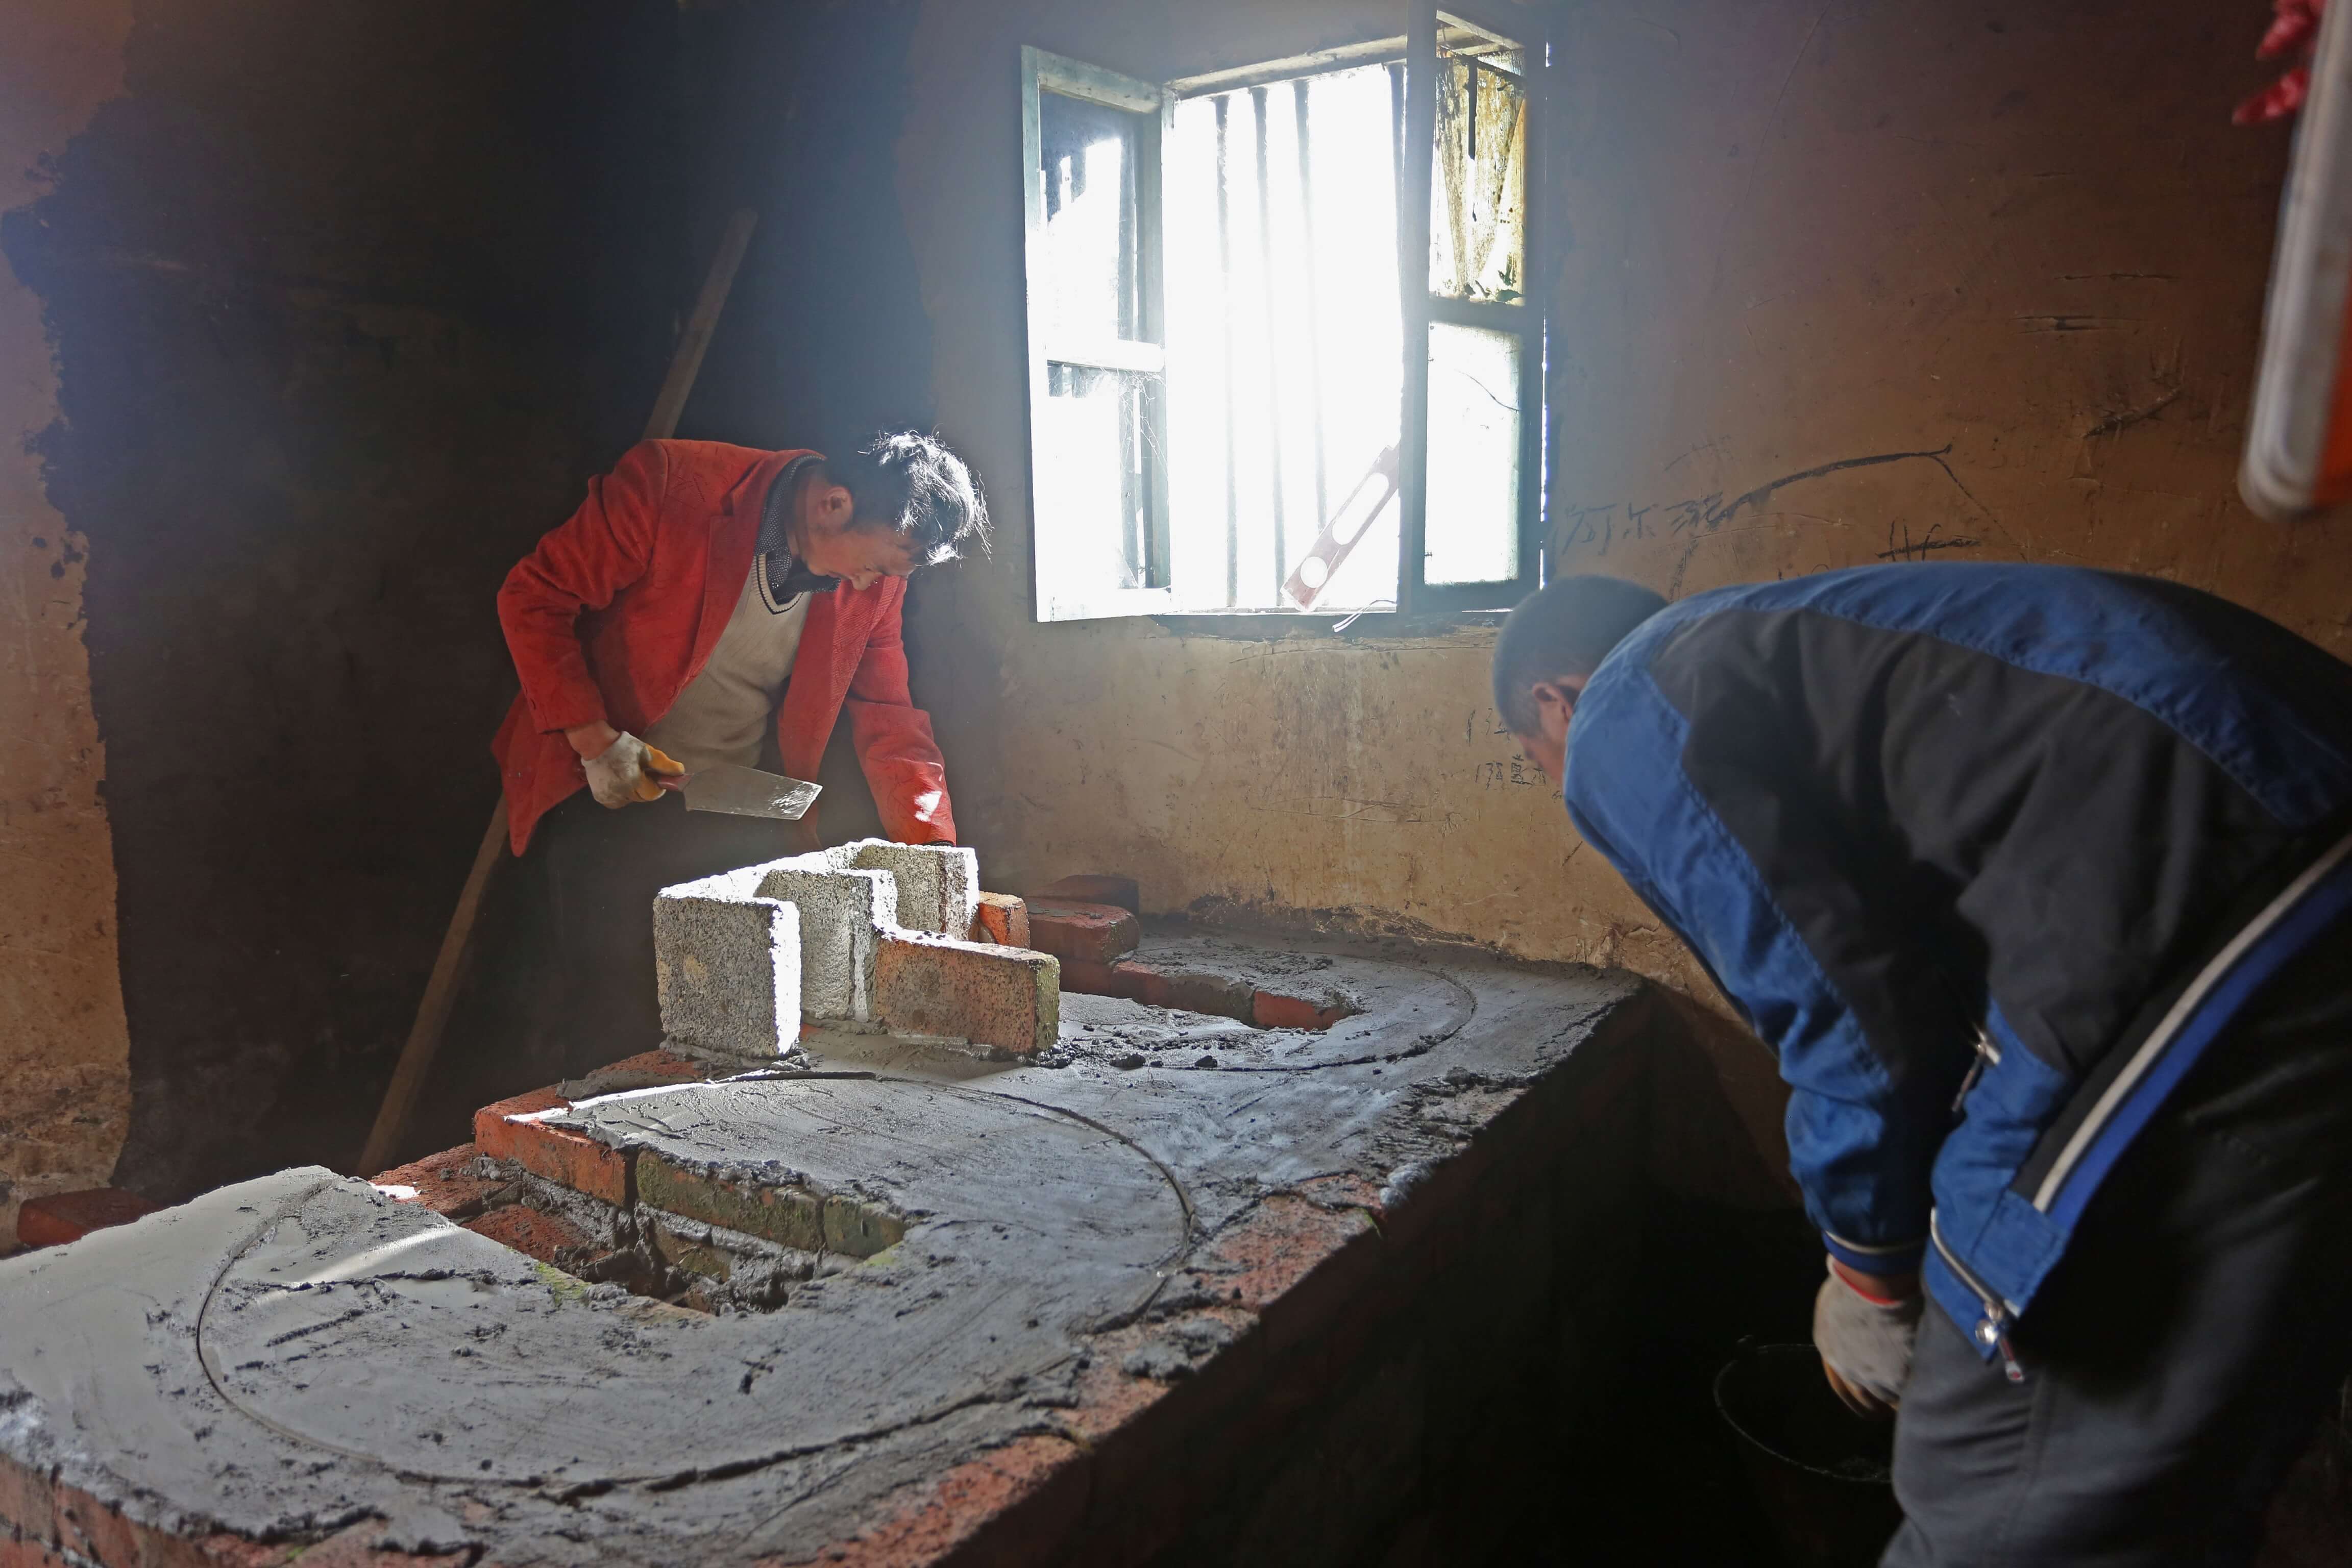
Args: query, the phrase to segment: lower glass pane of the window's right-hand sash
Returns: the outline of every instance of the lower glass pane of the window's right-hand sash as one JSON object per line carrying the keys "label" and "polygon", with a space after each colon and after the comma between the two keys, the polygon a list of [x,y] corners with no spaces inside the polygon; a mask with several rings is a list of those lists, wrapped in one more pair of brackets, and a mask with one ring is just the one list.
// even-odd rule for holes
{"label": "lower glass pane of the window's right-hand sash", "polygon": [[1428,583],[1519,576],[1519,334],[1430,322]]}

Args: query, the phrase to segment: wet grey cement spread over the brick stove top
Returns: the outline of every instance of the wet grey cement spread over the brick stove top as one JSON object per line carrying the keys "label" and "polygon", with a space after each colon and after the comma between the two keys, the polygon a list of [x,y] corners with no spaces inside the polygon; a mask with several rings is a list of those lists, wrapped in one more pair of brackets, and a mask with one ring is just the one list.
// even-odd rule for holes
{"label": "wet grey cement spread over the brick stove top", "polygon": [[640,1161],[906,1222],[800,1258],[771,1312],[661,1307],[322,1168],[223,1187],[0,1265],[0,1455],[176,1535],[381,1519],[388,1547],[517,1566],[804,1561],[1054,1432],[1096,1356],[1216,1356],[1223,1232],[1317,1178],[1409,1206],[1637,990],[1204,936],[1138,957],[1362,1011],[1251,1030],[1065,997],[1033,1060],[809,1027],[783,1070],[574,1086],[600,1093],[562,1121]]}

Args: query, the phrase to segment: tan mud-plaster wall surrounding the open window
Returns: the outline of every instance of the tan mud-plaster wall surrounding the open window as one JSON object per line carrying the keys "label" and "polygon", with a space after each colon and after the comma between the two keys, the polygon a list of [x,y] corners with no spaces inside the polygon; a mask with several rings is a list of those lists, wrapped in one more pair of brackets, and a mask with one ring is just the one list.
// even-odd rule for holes
{"label": "tan mud-plaster wall surrounding the open window", "polygon": [[[2263,12],[1569,7],[1559,569],[1689,595],[1877,559],[2084,562],[2352,649],[2352,524],[2258,522],[2232,482],[2286,146],[2227,127]],[[917,668],[960,820],[993,884],[1127,870],[1155,907],[1463,933],[1705,997],[1498,733],[1491,628],[1030,623],[1018,45],[1164,80],[1395,31],[1395,5],[924,7],[898,193],[938,421],[1004,520],[997,567],[946,595],[962,644]],[[1717,1060],[1771,1147],[1769,1067]]]}

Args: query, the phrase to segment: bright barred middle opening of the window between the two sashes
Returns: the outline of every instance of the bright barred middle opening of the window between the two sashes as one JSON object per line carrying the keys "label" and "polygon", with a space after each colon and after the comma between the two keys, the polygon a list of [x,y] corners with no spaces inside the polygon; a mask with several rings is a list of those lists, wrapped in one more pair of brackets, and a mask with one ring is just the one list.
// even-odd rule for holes
{"label": "bright barred middle opening of the window between the two sashes", "polygon": [[1324,541],[1345,550],[1317,611],[1395,604],[1397,508],[1348,510],[1402,402],[1388,68],[1185,99],[1167,202],[1178,597],[1296,609],[1282,585]]}

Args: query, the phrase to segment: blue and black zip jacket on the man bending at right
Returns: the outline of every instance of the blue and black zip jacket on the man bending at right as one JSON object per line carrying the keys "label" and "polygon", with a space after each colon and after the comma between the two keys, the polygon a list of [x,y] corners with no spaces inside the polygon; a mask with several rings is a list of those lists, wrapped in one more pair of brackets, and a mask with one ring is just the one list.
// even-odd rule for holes
{"label": "blue and black zip jacket on the man bending at right", "polygon": [[2352,668],[2107,571],[1724,588],[1592,672],[1564,795],[1778,1051],[1830,1253],[1924,1258],[1990,1359],[2171,1086],[2352,907]]}

